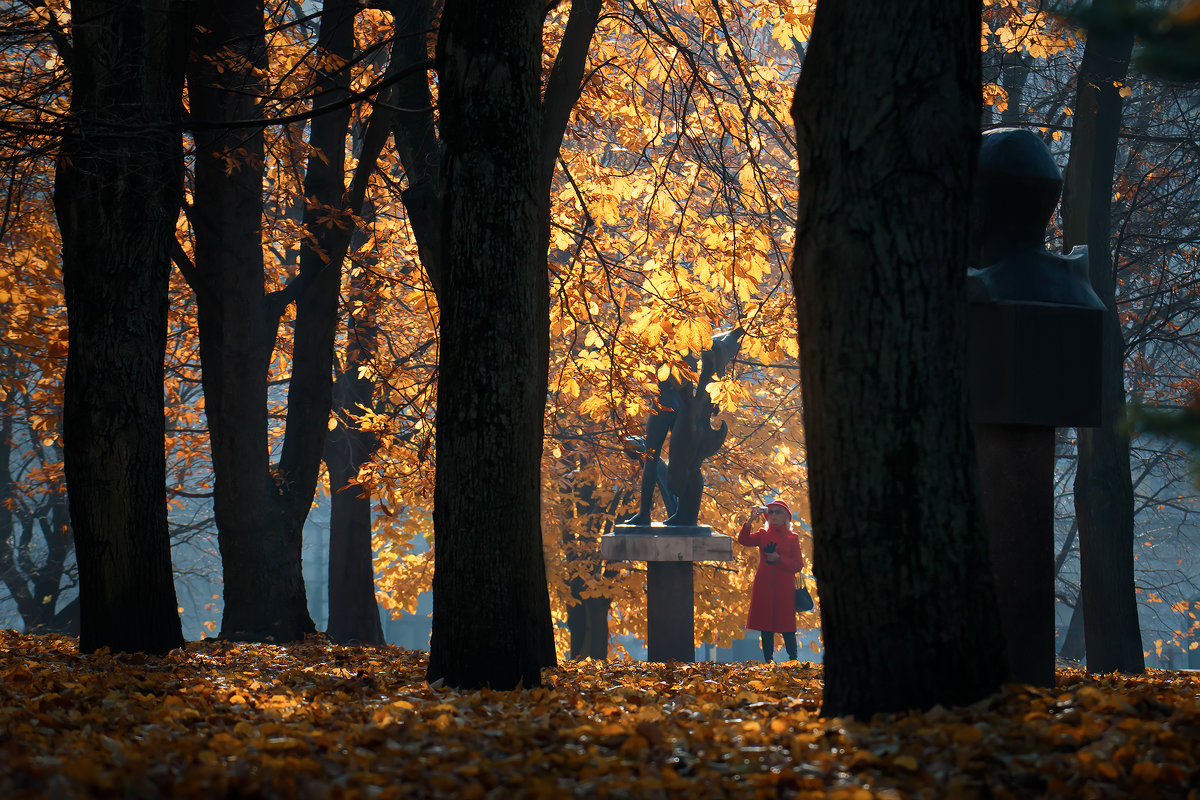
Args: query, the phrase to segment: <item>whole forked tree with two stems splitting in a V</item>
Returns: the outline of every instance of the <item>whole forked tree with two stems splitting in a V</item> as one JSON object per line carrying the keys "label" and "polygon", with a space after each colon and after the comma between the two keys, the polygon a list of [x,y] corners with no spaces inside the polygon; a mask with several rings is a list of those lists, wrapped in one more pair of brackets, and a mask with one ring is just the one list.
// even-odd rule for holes
{"label": "whole forked tree with two stems splitting in a V", "polygon": [[[341,264],[361,206],[365,176],[378,150],[364,148],[347,190],[350,108],[316,114],[304,186],[307,237],[299,275],[264,293],[262,253],[263,137],[253,125],[221,121],[262,116],[263,6],[205,6],[190,74],[197,120],[196,269],[188,281],[199,305],[205,407],[212,435],[217,529],[224,567],[221,636],[290,640],[314,630],[301,573],[304,523],[312,506],[332,396],[334,333]],[[325,2],[317,49],[349,64],[354,0]],[[323,73],[320,104],[348,94],[348,70]],[[215,125],[215,122],[217,125]],[[229,169],[230,162],[235,168]],[[330,222],[334,219],[335,222]],[[283,309],[296,303],[287,427],[277,463],[266,438],[269,362]]]}

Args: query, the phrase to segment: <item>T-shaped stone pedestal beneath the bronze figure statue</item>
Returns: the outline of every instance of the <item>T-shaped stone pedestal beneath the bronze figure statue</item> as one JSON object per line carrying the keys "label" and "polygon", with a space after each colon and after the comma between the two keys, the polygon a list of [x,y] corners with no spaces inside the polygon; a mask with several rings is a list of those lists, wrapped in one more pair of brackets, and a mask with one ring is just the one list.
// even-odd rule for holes
{"label": "T-shaped stone pedestal beneath the bronze figure statue", "polygon": [[732,561],[733,540],[708,525],[617,525],[600,537],[608,561],[646,561],[648,661],[695,661],[694,561]]}

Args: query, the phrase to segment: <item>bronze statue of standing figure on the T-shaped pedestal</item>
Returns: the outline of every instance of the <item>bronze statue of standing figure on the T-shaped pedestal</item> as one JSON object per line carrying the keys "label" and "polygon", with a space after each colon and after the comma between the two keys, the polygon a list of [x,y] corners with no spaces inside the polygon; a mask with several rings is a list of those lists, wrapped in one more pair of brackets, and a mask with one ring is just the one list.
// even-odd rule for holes
{"label": "bronze statue of standing figure on the T-shaped pedestal", "polygon": [[[728,434],[725,422],[713,428],[710,420],[715,409],[708,384],[714,377],[725,374],[725,367],[737,356],[744,335],[745,331],[736,327],[713,336],[712,348],[700,354],[700,374],[695,384],[688,378],[680,381],[673,374],[659,381],[659,407],[646,422],[646,439],[634,440],[634,455],[643,459],[641,506],[636,515],[624,521],[625,524],[650,524],[655,485],[670,513],[665,524],[697,523],[700,500],[704,493],[701,463],[721,449]],[[695,369],[696,357],[689,355],[685,363]],[[664,461],[661,453],[667,434],[671,435],[671,458]]]}

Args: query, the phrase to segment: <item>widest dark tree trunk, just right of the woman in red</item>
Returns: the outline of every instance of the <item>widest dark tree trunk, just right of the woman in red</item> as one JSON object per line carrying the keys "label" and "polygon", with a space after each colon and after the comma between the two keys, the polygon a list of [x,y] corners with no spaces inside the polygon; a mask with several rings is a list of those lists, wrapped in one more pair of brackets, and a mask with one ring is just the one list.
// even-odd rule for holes
{"label": "widest dark tree trunk, just right of the woman in red", "polygon": [[822,714],[1004,679],[965,390],[978,4],[821,0],[792,114]]}

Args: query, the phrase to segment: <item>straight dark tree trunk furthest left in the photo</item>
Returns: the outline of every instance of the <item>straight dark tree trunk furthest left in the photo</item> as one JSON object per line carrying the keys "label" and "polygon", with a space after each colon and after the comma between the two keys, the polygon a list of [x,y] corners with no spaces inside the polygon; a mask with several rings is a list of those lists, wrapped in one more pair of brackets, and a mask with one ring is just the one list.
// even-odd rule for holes
{"label": "straight dark tree trunk furthest left in the photo", "polygon": [[[70,326],[62,410],[84,652],[182,644],[163,456],[167,282],[182,197],[187,20],[166,0],[74,0],[54,187]],[[88,24],[79,24],[88,20]]]}

